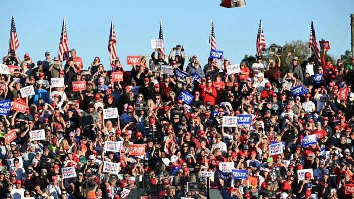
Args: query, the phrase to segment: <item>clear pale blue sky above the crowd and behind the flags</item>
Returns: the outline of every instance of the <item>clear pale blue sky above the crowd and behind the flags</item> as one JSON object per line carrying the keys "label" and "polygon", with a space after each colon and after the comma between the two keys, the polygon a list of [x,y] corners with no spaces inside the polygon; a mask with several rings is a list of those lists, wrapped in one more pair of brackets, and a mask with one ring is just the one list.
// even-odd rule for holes
{"label": "clear pale blue sky above the crowd and behind the flags", "polygon": [[[354,1],[329,0],[246,0],[243,8],[220,7],[218,0],[154,0],[154,1],[5,1],[0,17],[0,52],[8,52],[11,16],[20,46],[17,54],[23,60],[29,53],[35,63],[49,51],[58,55],[63,17],[69,48],[75,48],[82,58],[84,69],[95,56],[109,67],[107,50],[111,18],[117,35],[117,54],[125,69],[127,55],[151,54],[150,39],[157,39],[160,19],[163,20],[165,52],[177,44],[183,45],[185,55],[197,55],[201,64],[210,52],[208,42],[210,19],[214,21],[217,48],[231,63],[239,63],[245,54],[254,55],[259,20],[267,47],[284,45],[291,40],[309,40],[311,20],[314,21],[317,40],[330,41],[329,53],[337,58],[351,49],[350,13]],[[342,42],[344,41],[343,45]],[[342,45],[342,47],[341,47]],[[187,60],[186,60],[187,61]],[[186,66],[186,65],[185,65]]]}

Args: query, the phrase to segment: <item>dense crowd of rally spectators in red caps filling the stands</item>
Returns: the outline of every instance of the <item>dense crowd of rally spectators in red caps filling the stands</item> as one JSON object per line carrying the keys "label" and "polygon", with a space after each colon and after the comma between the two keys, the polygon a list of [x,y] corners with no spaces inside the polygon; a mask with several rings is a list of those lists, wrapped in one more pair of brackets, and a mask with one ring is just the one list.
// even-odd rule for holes
{"label": "dense crowd of rally spectators in red caps filling the stands", "polygon": [[[0,197],[206,199],[207,189],[224,199],[354,197],[354,58],[347,66],[340,59],[332,64],[324,52],[322,64],[314,57],[300,64],[289,52],[274,60],[257,56],[251,66],[242,61],[240,72],[229,73],[227,58],[208,58],[202,67],[194,55],[185,64],[180,47],[168,59],[155,49],[150,63],[141,57],[131,71],[119,58],[104,67],[99,57],[83,70],[75,49],[70,53],[63,62],[49,52],[37,62],[29,54],[22,61],[13,50],[3,58],[18,68],[0,75],[0,104],[11,101],[0,122]],[[187,76],[153,71],[156,65]],[[113,72],[122,72],[123,81],[114,81]],[[314,81],[318,74],[321,81]],[[63,78],[63,87],[52,87],[52,78]],[[73,91],[76,81],[86,88]],[[34,94],[22,97],[21,88],[31,85]],[[304,91],[292,92],[299,85]],[[345,99],[342,88],[349,88]],[[27,108],[14,110],[14,102]],[[137,102],[147,106],[138,109]],[[104,119],[109,108],[117,108],[116,118]],[[247,115],[247,123],[223,123]],[[32,140],[30,132],[40,129],[45,137]],[[316,139],[307,145],[310,135]],[[107,150],[107,142],[119,142],[119,149]],[[271,154],[277,142],[283,150]],[[145,154],[131,155],[133,144],[144,145]],[[118,172],[104,172],[107,162],[119,163]],[[221,171],[226,162],[246,176]],[[74,167],[75,177],[64,178],[66,167]],[[205,179],[204,172],[212,175]]]}

